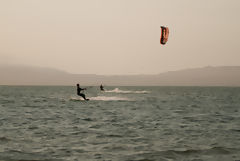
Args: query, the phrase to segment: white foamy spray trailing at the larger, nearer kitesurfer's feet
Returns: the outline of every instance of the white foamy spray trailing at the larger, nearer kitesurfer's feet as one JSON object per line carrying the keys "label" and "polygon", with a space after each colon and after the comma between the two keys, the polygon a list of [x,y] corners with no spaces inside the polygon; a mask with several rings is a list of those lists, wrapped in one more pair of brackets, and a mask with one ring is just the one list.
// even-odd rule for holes
{"label": "white foamy spray trailing at the larger, nearer kitesurfer's feet", "polygon": [[[88,97],[88,99],[94,101],[133,101],[125,97],[107,97],[107,96],[97,96],[97,97]],[[71,97],[71,101],[84,101],[81,97]]]}

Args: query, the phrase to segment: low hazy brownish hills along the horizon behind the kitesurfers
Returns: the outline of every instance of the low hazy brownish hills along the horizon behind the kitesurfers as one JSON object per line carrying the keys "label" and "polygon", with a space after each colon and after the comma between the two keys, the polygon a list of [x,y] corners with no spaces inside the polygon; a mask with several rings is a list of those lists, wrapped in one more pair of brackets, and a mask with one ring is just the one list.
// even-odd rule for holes
{"label": "low hazy brownish hills along the horizon behind the kitesurfers", "polygon": [[193,68],[158,75],[71,74],[52,68],[0,66],[0,85],[240,86],[240,66]]}

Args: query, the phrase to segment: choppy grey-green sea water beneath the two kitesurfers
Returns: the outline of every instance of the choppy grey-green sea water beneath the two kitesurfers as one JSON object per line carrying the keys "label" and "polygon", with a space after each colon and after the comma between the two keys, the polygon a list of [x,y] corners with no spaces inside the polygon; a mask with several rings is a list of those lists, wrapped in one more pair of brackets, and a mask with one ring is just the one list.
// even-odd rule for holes
{"label": "choppy grey-green sea water beneath the two kitesurfers", "polygon": [[240,88],[0,86],[0,161],[240,161]]}

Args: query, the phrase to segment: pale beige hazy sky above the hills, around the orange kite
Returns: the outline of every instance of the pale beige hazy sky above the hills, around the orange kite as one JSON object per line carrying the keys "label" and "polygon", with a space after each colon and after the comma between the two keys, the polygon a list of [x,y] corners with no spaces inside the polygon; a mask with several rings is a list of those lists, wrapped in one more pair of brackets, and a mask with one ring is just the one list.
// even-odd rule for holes
{"label": "pale beige hazy sky above the hills, around the orange kite", "polygon": [[240,0],[0,0],[0,64],[79,74],[240,65]]}

